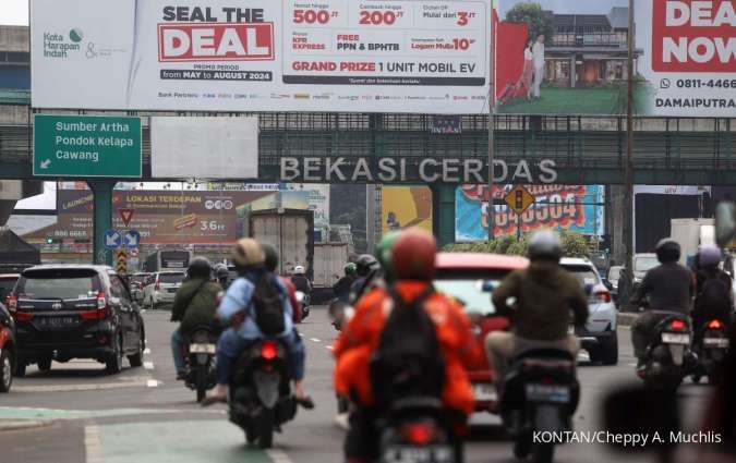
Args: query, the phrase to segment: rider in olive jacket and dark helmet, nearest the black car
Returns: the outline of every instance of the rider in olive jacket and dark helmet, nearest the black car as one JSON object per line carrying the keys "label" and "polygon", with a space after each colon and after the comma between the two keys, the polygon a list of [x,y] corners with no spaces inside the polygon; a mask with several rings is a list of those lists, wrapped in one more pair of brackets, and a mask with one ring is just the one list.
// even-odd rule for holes
{"label": "rider in olive jacket and dark helmet, nearest the black car", "polygon": [[212,267],[206,257],[194,257],[186,269],[186,281],[173,296],[171,321],[180,321],[179,329],[171,333],[171,355],[177,369],[177,380],[186,378],[184,343],[197,327],[209,327],[213,333],[220,331],[217,313],[217,294],[222,288],[210,281]]}

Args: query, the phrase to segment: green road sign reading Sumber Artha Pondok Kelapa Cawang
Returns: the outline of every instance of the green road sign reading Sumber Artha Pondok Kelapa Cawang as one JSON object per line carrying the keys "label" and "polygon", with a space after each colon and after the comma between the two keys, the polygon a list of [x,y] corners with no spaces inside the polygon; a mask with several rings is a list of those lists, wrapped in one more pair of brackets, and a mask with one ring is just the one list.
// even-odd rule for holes
{"label": "green road sign reading Sumber Artha Pondok Kelapa Cawang", "polygon": [[33,174],[141,178],[141,118],[36,114]]}

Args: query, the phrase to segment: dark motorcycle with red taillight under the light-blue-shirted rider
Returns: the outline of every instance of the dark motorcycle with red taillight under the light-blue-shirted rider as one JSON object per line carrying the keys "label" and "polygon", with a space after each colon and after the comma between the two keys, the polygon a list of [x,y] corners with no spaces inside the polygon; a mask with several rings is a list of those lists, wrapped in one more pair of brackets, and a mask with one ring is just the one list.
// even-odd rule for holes
{"label": "dark motorcycle with red taillight under the light-blue-shirted rider", "polygon": [[297,415],[286,348],[274,340],[254,342],[239,357],[230,385],[230,421],[249,444],[269,449],[274,431]]}

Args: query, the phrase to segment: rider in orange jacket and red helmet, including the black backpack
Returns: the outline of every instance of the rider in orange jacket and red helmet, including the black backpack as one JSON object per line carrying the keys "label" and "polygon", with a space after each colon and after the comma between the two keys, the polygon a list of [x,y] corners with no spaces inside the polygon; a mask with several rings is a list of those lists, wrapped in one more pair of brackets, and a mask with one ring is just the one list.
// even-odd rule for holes
{"label": "rider in orange jacket and red helmet, including the black backpack", "polygon": [[473,411],[467,367],[483,354],[462,309],[432,287],[435,254],[431,234],[403,231],[386,259],[395,283],[359,301],[335,344],[336,392],[355,405],[345,443],[349,462],[378,458],[376,419],[398,400],[435,397],[456,430]]}

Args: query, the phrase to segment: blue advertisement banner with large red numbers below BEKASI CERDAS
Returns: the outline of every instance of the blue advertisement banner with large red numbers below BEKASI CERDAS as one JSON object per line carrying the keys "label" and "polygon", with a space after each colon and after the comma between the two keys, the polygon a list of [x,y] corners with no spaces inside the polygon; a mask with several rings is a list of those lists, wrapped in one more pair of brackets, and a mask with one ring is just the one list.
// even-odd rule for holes
{"label": "blue advertisement banner with large red numbers below BEKASI CERDAS", "polygon": [[[502,199],[512,185],[494,192]],[[517,220],[506,205],[494,207],[495,235],[516,235],[540,229],[566,230],[602,235],[604,231],[604,187],[601,185],[527,185],[535,204]],[[485,241],[488,237],[488,188],[485,185],[463,185],[455,192],[455,241]]]}

